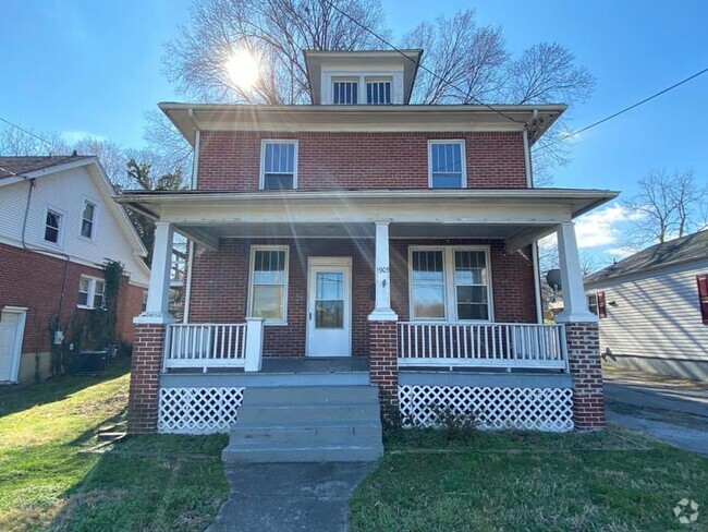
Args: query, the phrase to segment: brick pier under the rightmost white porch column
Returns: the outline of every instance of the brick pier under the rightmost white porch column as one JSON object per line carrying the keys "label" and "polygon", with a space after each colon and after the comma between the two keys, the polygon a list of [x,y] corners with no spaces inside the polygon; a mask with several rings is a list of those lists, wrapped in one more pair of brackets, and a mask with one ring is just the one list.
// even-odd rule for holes
{"label": "brick pier under the rightmost white porch column", "polygon": [[600,340],[596,323],[565,324],[567,362],[573,375],[575,430],[605,428]]}

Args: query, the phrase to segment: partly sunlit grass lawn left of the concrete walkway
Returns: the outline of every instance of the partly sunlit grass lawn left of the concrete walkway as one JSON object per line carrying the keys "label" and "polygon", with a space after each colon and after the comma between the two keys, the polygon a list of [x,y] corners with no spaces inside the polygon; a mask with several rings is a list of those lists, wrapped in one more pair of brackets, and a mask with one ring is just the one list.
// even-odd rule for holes
{"label": "partly sunlit grass lawn left of the concrete walkway", "polygon": [[223,436],[139,436],[107,452],[127,366],[99,378],[0,388],[0,530],[202,531],[228,495]]}

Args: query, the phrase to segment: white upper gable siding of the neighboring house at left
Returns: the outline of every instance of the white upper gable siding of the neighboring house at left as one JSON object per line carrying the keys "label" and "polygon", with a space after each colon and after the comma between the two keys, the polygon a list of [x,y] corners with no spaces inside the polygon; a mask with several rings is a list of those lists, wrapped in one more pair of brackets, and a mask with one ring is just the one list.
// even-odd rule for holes
{"label": "white upper gable siding of the neighboring house at left", "polygon": [[[131,282],[147,286],[149,274],[141,265],[142,258],[134,255],[126,231],[122,229],[125,220],[114,216],[112,205],[108,203],[110,197],[95,183],[95,179],[100,178],[91,176],[85,166],[37,178],[27,213],[25,242],[28,246],[66,253],[96,266],[102,265],[107,257],[120,261]],[[0,242],[22,245],[28,191],[28,181],[0,189]],[[93,240],[80,237],[85,200],[98,206]],[[62,245],[47,244],[42,240],[47,207],[64,214]]]}

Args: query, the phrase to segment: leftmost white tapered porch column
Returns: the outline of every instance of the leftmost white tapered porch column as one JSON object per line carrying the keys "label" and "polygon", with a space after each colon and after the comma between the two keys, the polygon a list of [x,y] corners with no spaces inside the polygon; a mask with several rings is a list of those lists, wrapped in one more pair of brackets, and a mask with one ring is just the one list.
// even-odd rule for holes
{"label": "leftmost white tapered porch column", "polygon": [[171,324],[170,269],[172,267],[172,239],[174,230],[167,221],[155,222],[155,245],[150,285],[145,312],[133,319],[135,324]]}

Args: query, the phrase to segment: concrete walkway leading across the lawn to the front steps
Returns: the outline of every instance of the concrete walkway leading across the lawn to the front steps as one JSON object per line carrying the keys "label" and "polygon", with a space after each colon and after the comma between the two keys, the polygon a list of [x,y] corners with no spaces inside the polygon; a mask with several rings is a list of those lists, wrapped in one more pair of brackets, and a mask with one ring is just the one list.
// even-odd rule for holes
{"label": "concrete walkway leading across the lawn to the front steps", "polygon": [[366,462],[227,466],[231,486],[207,532],[345,532],[349,499]]}

